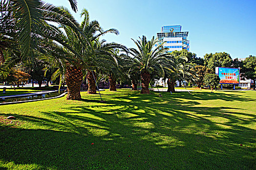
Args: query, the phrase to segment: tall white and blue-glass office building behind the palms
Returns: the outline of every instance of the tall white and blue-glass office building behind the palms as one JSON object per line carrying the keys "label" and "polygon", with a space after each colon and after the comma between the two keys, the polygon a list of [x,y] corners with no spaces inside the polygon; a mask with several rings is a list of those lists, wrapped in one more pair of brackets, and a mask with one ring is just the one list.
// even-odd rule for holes
{"label": "tall white and blue-glass office building behind the palms", "polygon": [[[163,26],[161,33],[157,33],[158,44],[166,42],[163,48],[169,48],[168,52],[190,50],[189,32],[181,32],[181,25]],[[155,44],[155,47],[157,46]]]}

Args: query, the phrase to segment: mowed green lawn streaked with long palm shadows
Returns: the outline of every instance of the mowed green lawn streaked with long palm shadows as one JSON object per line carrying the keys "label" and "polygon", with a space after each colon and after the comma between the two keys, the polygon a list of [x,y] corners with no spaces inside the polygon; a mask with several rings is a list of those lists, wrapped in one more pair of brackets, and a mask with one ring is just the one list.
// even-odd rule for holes
{"label": "mowed green lawn streaked with long palm shadows", "polygon": [[0,106],[0,169],[256,169],[256,91],[81,94]]}

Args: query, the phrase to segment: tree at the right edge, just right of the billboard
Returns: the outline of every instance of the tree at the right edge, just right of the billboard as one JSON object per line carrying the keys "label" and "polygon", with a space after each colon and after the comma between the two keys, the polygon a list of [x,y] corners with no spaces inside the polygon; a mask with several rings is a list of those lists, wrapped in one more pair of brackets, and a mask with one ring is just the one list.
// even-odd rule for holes
{"label": "tree at the right edge, just right of the billboard", "polygon": [[254,81],[254,90],[256,84],[256,56],[250,55],[243,61],[242,76],[246,79],[252,79]]}

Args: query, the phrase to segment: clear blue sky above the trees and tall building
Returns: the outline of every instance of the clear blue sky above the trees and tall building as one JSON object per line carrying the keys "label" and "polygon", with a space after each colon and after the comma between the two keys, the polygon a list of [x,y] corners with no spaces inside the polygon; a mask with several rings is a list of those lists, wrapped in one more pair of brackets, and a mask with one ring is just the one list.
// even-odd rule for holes
{"label": "clear blue sky above the trees and tall building", "polygon": [[[44,0],[71,10],[68,0]],[[156,36],[164,25],[182,25],[189,31],[190,51],[228,52],[232,58],[256,55],[256,0],[77,0],[78,12],[86,8],[90,20],[120,34],[104,39],[135,47],[130,38]]]}

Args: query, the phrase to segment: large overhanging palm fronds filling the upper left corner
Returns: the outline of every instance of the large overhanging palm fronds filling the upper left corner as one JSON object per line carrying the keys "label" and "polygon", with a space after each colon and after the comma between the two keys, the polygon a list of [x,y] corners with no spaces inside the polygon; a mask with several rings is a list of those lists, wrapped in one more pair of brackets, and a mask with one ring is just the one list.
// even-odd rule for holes
{"label": "large overhanging palm fronds filling the upper left corner", "polygon": [[[69,2],[76,11],[76,0]],[[0,20],[1,78],[19,62],[30,60],[33,63],[36,60],[35,52],[47,53],[43,43],[48,40],[66,46],[60,36],[55,34],[56,28],[47,21],[67,25],[80,32],[79,24],[72,16],[41,0],[1,0]],[[10,55],[4,56],[6,53]]]}

